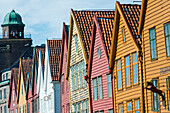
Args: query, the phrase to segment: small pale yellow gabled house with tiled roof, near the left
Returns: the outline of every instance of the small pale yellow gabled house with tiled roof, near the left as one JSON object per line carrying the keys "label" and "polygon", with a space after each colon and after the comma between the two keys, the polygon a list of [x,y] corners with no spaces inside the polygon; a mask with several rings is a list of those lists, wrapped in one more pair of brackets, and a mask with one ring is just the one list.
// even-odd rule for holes
{"label": "small pale yellow gabled house with tiled roof, near the left", "polygon": [[20,59],[17,87],[18,113],[27,112],[26,81],[27,76],[31,74],[32,74],[32,59]]}

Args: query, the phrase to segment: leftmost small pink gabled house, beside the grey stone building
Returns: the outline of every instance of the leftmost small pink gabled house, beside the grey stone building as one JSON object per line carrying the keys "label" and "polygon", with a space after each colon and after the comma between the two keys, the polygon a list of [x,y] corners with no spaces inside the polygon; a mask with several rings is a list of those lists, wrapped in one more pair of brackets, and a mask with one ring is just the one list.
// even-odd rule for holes
{"label": "leftmost small pink gabled house, beside the grey stone building", "polygon": [[10,80],[10,89],[9,89],[9,100],[8,108],[10,113],[18,113],[18,104],[17,104],[17,84],[18,84],[18,68],[11,69],[11,80]]}

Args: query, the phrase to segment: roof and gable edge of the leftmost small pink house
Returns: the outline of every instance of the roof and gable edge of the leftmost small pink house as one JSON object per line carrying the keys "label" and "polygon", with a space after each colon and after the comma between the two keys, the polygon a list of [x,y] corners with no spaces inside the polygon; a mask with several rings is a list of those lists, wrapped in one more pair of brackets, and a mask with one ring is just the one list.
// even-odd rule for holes
{"label": "roof and gable edge of the leftmost small pink house", "polygon": [[12,68],[11,69],[11,79],[10,79],[10,88],[9,88],[9,99],[8,99],[8,108],[10,108],[10,104],[11,104],[11,98],[12,98],[12,93],[13,93],[13,83],[14,83],[14,87],[15,87],[15,95],[17,95],[17,82],[15,79],[18,79],[18,68]]}

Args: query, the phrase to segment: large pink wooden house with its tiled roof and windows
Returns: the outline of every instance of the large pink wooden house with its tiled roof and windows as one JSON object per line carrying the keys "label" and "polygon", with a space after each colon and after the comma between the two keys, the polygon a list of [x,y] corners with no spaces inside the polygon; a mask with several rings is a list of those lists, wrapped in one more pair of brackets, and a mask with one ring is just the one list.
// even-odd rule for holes
{"label": "large pink wooden house with its tiled roof and windows", "polygon": [[91,111],[95,113],[113,113],[112,80],[108,69],[113,22],[114,11],[106,17],[93,17],[87,74]]}

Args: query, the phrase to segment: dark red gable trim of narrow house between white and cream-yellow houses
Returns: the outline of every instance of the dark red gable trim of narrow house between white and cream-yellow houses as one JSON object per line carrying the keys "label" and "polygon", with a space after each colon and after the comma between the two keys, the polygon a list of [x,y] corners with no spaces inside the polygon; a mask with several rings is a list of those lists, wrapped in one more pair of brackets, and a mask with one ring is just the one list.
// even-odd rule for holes
{"label": "dark red gable trim of narrow house between white and cream-yellow houses", "polygon": [[68,33],[69,33],[69,26],[65,25],[63,22],[63,33],[62,33],[62,43],[61,43],[61,53],[60,53],[60,64],[59,64],[59,73],[58,73],[58,80],[60,81],[62,75],[62,67],[63,67],[63,58],[64,58],[64,47],[66,44],[66,50],[68,50]]}

